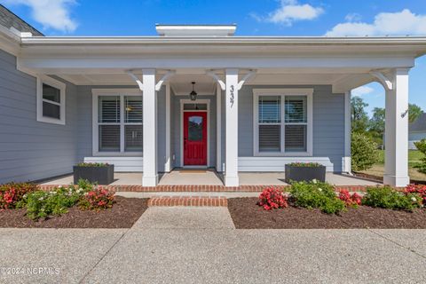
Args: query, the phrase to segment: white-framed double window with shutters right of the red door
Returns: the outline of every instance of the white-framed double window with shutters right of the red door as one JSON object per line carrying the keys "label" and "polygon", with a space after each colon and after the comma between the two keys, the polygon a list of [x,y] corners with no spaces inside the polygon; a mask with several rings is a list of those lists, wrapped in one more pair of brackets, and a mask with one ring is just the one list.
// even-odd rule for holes
{"label": "white-framed double window with shutters right of the red door", "polygon": [[312,92],[254,90],[255,155],[312,155]]}

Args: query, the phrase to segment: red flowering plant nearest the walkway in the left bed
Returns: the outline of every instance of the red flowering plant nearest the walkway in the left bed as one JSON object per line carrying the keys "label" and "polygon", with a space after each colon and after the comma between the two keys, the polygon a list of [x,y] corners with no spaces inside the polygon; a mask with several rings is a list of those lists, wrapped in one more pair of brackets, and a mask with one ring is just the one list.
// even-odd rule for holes
{"label": "red flowering plant nearest the walkway in the left bed", "polygon": [[84,193],[83,198],[80,200],[81,209],[97,210],[108,209],[113,207],[114,193],[98,186],[93,190]]}

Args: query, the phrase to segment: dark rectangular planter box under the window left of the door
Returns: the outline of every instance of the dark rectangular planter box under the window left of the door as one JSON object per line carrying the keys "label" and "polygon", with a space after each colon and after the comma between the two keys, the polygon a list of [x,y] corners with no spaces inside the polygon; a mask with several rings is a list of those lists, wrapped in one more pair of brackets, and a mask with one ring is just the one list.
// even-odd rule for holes
{"label": "dark rectangular planter box under the window left of the door", "polygon": [[74,184],[80,178],[91,183],[109,185],[114,182],[114,165],[106,162],[80,162],[74,166]]}

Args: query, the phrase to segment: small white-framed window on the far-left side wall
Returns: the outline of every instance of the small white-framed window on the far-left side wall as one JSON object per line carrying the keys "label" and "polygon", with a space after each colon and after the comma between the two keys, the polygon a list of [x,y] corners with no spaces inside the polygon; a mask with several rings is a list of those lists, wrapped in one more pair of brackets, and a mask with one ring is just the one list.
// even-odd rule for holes
{"label": "small white-framed window on the far-left side wall", "polygon": [[37,121],[65,124],[65,89],[51,77],[37,77]]}

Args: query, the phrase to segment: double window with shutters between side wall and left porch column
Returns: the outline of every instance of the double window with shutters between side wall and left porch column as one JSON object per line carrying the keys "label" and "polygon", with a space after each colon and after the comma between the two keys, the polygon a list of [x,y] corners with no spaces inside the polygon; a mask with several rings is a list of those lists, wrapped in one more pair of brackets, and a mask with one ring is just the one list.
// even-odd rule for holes
{"label": "double window with shutters between side wall and left porch column", "polygon": [[142,95],[140,91],[117,92],[93,90],[93,154],[142,153]]}

